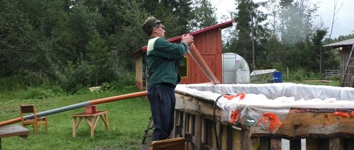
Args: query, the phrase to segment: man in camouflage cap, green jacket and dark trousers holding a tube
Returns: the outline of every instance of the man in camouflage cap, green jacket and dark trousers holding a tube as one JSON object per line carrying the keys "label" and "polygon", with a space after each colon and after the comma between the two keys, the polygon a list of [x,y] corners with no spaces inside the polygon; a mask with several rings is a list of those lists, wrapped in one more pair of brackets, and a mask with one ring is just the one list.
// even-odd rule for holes
{"label": "man in camouflage cap, green jacket and dark trousers holding a tube", "polygon": [[147,64],[150,79],[148,98],[155,129],[152,141],[164,140],[170,135],[174,124],[175,96],[174,88],[181,81],[178,68],[183,56],[193,43],[193,36],[182,35],[180,44],[166,41],[163,21],[153,16],[143,24],[143,30],[149,35]]}

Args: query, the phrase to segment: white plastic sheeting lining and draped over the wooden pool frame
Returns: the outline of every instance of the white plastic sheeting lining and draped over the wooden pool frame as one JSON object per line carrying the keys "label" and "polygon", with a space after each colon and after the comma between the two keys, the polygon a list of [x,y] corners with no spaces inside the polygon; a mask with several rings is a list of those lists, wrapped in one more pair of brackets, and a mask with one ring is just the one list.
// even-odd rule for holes
{"label": "white plastic sheeting lining and draped over the wooden pool frame", "polygon": [[[272,133],[278,130],[278,126],[271,131],[271,121],[265,121],[265,115],[270,113],[276,115],[282,123],[290,108],[354,108],[354,88],[349,87],[293,83],[190,84],[177,85],[175,90],[213,101],[220,95],[245,92],[246,95],[242,99],[240,96],[231,100],[223,96],[218,99],[216,104],[222,109],[222,121],[230,122],[232,111],[237,110],[240,118],[246,118],[248,123],[254,122],[254,125],[258,123]],[[240,122],[241,119],[233,123]]]}

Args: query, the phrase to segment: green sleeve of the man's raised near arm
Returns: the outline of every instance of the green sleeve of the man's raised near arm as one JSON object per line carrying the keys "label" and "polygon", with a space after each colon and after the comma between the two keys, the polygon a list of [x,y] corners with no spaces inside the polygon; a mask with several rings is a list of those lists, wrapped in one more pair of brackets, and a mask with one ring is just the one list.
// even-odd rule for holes
{"label": "green sleeve of the man's raised near arm", "polygon": [[180,59],[188,51],[186,42],[180,44],[170,43],[165,39],[159,38],[154,44],[153,55],[167,59]]}

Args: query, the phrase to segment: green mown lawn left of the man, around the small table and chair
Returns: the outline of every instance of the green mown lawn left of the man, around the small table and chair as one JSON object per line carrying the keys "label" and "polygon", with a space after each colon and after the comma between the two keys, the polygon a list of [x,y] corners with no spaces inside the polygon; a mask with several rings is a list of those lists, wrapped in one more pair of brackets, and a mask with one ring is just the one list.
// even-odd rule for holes
{"label": "green mown lawn left of the man, around the small table and chair", "polygon": [[[20,117],[21,104],[34,104],[38,112],[51,110],[80,102],[112,97],[122,94],[139,92],[135,86],[122,89],[117,93],[92,92],[81,95],[61,95],[45,99],[16,98],[19,93],[7,92],[13,99],[0,96],[2,103],[0,122]],[[150,113],[150,104],[144,97],[119,100],[97,105],[98,110],[109,110],[108,122],[110,129],[99,119],[95,129],[95,137],[90,137],[87,123],[82,120],[77,129],[77,135],[72,137],[71,115],[82,113],[84,108],[64,111],[47,116],[49,130],[40,126],[39,134],[34,134],[32,126],[28,138],[2,138],[3,149],[137,149],[141,144],[144,130],[147,127]],[[21,125],[21,123],[15,123]],[[149,138],[147,140],[149,142]]]}

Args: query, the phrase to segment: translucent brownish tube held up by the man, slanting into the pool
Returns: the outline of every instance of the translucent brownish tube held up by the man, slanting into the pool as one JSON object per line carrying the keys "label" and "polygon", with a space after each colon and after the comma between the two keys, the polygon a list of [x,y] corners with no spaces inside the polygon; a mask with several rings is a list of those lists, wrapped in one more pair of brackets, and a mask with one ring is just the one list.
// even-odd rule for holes
{"label": "translucent brownish tube held up by the man, slanting into the pool", "polygon": [[199,54],[197,48],[194,46],[193,43],[189,46],[189,51],[188,52],[189,52],[189,54],[191,54],[191,56],[193,57],[195,62],[198,64],[198,66],[203,70],[205,75],[211,80],[211,82],[213,84],[215,84],[215,85],[216,84],[220,84],[220,82],[216,79],[214,74],[211,72],[210,68],[205,63],[204,59]]}

